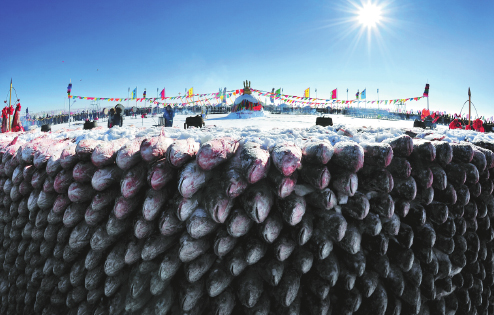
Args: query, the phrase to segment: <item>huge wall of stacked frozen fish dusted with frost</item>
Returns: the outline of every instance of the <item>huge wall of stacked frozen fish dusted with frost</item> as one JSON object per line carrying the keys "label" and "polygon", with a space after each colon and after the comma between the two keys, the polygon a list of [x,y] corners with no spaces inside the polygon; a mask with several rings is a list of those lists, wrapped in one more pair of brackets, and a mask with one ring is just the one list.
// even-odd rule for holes
{"label": "huge wall of stacked frozen fish dusted with frost", "polygon": [[0,141],[0,313],[492,314],[493,151]]}

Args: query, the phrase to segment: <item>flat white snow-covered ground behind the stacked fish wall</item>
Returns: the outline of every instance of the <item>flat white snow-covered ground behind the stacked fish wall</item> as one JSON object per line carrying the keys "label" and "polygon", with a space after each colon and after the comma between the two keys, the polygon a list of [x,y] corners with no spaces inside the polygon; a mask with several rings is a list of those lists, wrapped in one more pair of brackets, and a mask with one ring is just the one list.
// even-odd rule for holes
{"label": "flat white snow-covered ground behind the stacked fish wall", "polygon": [[[219,137],[233,137],[240,141],[260,143],[263,148],[272,148],[280,142],[295,142],[302,145],[304,141],[325,139],[332,144],[340,141],[381,142],[390,137],[404,134],[408,130],[417,133],[417,138],[427,140],[441,139],[448,142],[487,140],[494,141],[494,134],[482,134],[472,130],[449,130],[447,126],[438,125],[436,130],[413,128],[412,120],[380,120],[353,118],[343,115],[330,115],[333,126],[316,126],[315,115],[282,115],[263,113],[262,117],[249,119],[229,119],[227,114],[209,115],[206,127],[183,129],[187,115],[176,115],[174,127],[156,127],[157,116],[148,118],[125,117],[123,127],[108,129],[106,121],[100,121],[100,126],[93,130],[82,130],[82,122],[53,125],[52,132],[42,133],[40,128],[20,135],[26,141],[39,136],[64,139],[74,138],[76,142],[82,139],[115,140],[119,138],[134,139],[136,137],[158,136],[163,130],[165,136],[176,139],[192,138],[200,143]],[[3,139],[13,139],[17,134],[5,133]]]}

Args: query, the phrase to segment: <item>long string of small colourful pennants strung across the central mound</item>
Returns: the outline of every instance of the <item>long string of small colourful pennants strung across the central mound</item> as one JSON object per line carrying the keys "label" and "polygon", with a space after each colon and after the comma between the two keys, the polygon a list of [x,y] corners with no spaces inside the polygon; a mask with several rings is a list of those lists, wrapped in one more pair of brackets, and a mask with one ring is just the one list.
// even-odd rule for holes
{"label": "long string of small colourful pennants strung across the central mound", "polygon": [[[328,104],[351,105],[351,104],[358,103],[358,102],[364,102],[364,100],[360,100],[360,99],[338,100],[338,99],[322,99],[322,98],[306,97],[307,94],[305,94],[305,93],[304,93],[305,95],[302,97],[302,96],[296,96],[296,95],[287,95],[287,94],[280,94],[280,93],[273,93],[273,92],[268,92],[268,91],[256,90],[256,89],[252,89],[252,88],[251,88],[251,91],[257,93],[259,96],[270,97],[273,100],[281,100],[282,102],[285,102],[286,104],[293,104],[293,105],[295,105],[295,104],[304,104],[304,105],[309,105],[309,106],[320,106],[320,105],[328,105]],[[109,97],[89,97],[89,96],[76,96],[76,95],[69,95],[68,97],[70,99],[91,100],[91,101],[150,102],[150,103],[153,103],[156,105],[169,104],[169,102],[167,102],[167,101],[175,101],[175,102],[178,101],[178,102],[181,102],[183,106],[187,106],[187,105],[201,104],[203,102],[217,101],[217,100],[223,99],[224,97],[226,97],[226,100],[229,100],[232,96],[241,95],[241,94],[243,94],[243,89],[227,91],[226,94],[216,92],[216,93],[207,93],[207,94],[191,94],[191,95],[184,95],[184,96],[149,97],[149,98],[148,97],[143,97],[143,98],[109,98]],[[198,97],[198,99],[195,100],[194,97]],[[365,100],[365,102],[366,102],[366,104],[391,105],[391,104],[395,104],[397,102],[403,102],[404,103],[407,101],[418,101],[422,98],[423,98],[423,96],[418,96],[418,97],[399,98],[399,99],[392,99],[392,100],[379,100],[379,101],[367,101],[367,100]]]}

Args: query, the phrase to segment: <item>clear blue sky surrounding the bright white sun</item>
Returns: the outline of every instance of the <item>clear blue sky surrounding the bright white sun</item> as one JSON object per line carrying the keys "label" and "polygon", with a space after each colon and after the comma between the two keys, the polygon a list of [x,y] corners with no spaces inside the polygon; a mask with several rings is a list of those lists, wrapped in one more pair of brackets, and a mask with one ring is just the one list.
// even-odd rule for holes
{"label": "clear blue sky surrounding the bright white sun", "polygon": [[[68,109],[69,80],[72,95],[89,97],[125,98],[135,87],[139,97],[144,88],[148,97],[163,88],[205,94],[249,80],[288,95],[310,88],[318,98],[337,88],[343,100],[347,89],[350,100],[366,89],[369,101],[422,96],[428,82],[432,110],[459,113],[470,87],[478,115],[490,117],[494,2],[473,3],[9,1],[0,11],[0,96],[8,102],[12,79],[32,113]],[[381,10],[375,27],[358,20],[369,4]]]}

